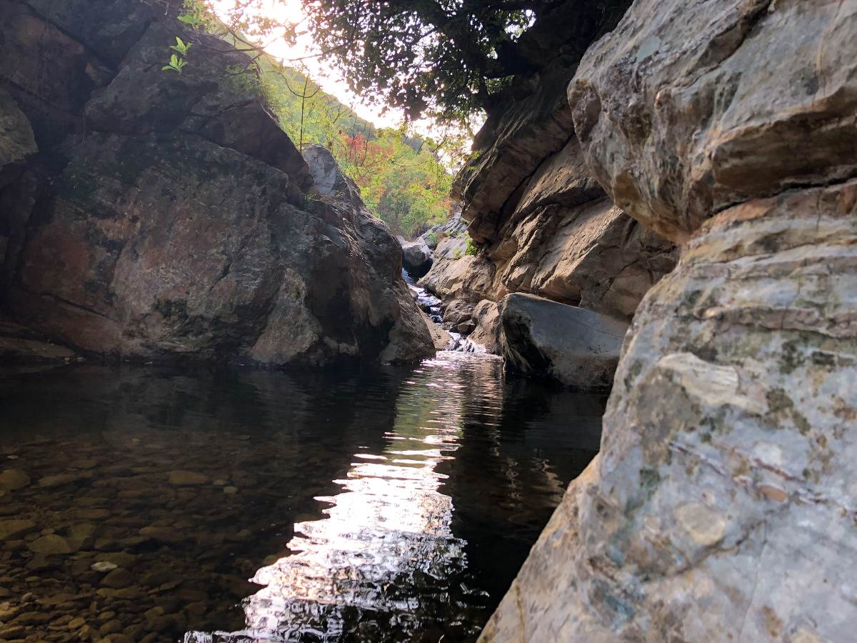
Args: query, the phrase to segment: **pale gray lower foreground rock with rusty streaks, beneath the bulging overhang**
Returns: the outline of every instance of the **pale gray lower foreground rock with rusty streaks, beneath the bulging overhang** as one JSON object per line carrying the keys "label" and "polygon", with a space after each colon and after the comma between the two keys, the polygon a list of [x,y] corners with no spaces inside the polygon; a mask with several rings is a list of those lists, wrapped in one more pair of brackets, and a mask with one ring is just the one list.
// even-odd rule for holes
{"label": "pale gray lower foreground rock with rusty streaks, beneath the bulging overhang", "polygon": [[482,640],[850,639],[855,203],[796,191],[692,239]]}

